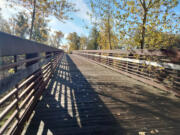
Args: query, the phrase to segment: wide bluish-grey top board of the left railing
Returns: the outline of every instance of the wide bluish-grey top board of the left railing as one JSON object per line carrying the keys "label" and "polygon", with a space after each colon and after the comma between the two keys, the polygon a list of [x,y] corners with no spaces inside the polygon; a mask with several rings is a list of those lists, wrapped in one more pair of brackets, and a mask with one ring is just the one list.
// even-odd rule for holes
{"label": "wide bluish-grey top board of the left railing", "polygon": [[0,32],[0,57],[56,51],[62,50]]}

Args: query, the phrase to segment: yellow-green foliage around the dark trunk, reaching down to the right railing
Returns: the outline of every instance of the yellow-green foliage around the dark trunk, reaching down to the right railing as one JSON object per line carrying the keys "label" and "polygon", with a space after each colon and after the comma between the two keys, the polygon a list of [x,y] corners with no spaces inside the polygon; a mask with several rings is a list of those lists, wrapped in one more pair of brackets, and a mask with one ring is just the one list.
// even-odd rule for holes
{"label": "yellow-green foliage around the dark trunk, reaching down to the right railing", "polygon": [[173,11],[177,4],[178,0],[114,0],[121,39],[137,48],[172,45],[180,30],[178,16]]}

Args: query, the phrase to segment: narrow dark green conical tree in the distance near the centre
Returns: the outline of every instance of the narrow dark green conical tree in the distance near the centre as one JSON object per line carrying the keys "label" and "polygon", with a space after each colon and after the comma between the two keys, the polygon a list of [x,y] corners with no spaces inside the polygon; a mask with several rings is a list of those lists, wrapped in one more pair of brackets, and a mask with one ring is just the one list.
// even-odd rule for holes
{"label": "narrow dark green conical tree in the distance near the centre", "polygon": [[97,30],[97,27],[94,26],[92,28],[90,36],[89,36],[89,42],[88,42],[88,46],[87,46],[88,50],[99,49],[98,37],[99,37],[99,31]]}

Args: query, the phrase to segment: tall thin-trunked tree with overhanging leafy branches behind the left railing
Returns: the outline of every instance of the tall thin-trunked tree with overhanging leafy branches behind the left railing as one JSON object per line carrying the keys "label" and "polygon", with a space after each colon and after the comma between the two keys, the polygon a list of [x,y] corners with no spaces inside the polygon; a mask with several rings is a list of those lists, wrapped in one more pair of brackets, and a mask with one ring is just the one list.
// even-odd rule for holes
{"label": "tall thin-trunked tree with overhanging leafy branches behind the left railing", "polygon": [[[71,19],[69,17],[70,12],[77,11],[74,7],[74,4],[71,2],[68,2],[67,0],[12,0],[12,3],[14,4],[21,4],[24,7],[27,7],[27,9],[30,9],[31,12],[31,27],[30,27],[30,39],[32,38],[32,33],[34,29],[34,23],[36,19],[36,15],[38,16],[49,16],[54,15],[58,20],[68,20]],[[13,4],[11,3],[11,6]]]}

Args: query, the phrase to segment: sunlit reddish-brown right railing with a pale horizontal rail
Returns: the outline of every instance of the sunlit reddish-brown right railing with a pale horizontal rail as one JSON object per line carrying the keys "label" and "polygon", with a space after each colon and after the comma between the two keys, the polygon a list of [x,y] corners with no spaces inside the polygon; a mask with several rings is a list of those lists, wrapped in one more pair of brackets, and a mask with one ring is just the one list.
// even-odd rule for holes
{"label": "sunlit reddish-brown right railing with a pale horizontal rail", "polygon": [[[180,51],[81,50],[73,54],[93,60],[144,83],[180,95]],[[128,85],[128,82],[127,82]]]}

